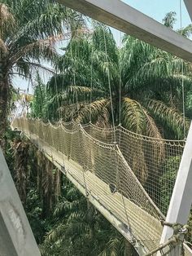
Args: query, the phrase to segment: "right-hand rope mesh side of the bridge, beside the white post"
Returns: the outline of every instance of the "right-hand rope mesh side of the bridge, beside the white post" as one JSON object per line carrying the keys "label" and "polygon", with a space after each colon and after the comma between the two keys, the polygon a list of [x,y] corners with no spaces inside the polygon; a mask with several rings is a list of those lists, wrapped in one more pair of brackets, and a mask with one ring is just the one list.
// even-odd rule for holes
{"label": "right-hand rope mesh side of the bridge, beside the white post", "polygon": [[120,152],[142,187],[166,215],[185,141],[137,135],[122,126],[116,126],[116,136],[114,129],[103,129],[93,124],[85,125],[84,129],[106,143],[113,143],[116,139]]}

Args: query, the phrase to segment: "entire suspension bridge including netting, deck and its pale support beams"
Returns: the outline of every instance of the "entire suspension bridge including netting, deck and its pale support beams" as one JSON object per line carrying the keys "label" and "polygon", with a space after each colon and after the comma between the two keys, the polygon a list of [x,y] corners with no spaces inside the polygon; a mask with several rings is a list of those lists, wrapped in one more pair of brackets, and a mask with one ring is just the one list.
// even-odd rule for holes
{"label": "entire suspension bridge including netting, deck and its pale support beams", "polygon": [[[189,40],[123,2],[58,2],[192,61]],[[191,15],[190,1],[185,0],[185,4]],[[52,124],[16,117],[11,126],[22,131],[72,181],[139,255],[192,255],[184,242],[188,228],[182,225],[191,203],[189,191],[186,192],[191,187],[191,131],[189,140],[168,140],[138,135],[122,126],[102,129],[91,122]],[[6,237],[1,232],[1,256],[40,255],[2,153],[0,161],[0,182],[4,186],[0,196],[0,228]],[[175,213],[173,206],[177,206]]]}

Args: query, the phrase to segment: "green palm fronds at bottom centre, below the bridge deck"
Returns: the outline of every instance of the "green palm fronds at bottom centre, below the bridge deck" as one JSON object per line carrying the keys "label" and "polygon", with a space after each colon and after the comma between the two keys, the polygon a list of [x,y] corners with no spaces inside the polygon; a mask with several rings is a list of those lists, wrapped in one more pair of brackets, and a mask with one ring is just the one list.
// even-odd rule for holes
{"label": "green palm fronds at bottom centre, below the bridge deck", "polygon": [[55,225],[41,245],[43,256],[137,255],[72,183],[65,180],[64,184],[63,200],[55,206]]}

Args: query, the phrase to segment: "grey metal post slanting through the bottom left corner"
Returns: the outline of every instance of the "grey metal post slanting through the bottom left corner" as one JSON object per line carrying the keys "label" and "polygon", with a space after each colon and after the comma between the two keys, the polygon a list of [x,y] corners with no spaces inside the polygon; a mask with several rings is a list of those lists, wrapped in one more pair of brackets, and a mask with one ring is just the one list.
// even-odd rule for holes
{"label": "grey metal post slanting through the bottom left corner", "polygon": [[0,148],[0,255],[40,256],[40,251],[24,213]]}

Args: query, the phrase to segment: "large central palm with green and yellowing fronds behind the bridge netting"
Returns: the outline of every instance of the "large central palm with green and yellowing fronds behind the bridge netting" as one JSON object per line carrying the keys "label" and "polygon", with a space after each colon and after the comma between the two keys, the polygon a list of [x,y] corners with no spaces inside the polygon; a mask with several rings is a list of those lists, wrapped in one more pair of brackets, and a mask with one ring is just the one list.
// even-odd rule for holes
{"label": "large central palm with green and yellowing fronds behind the bridge netting", "polygon": [[100,126],[113,119],[142,135],[183,138],[181,81],[188,90],[190,65],[135,38],[124,36],[123,42],[118,49],[110,29],[101,25],[91,37],[73,38],[56,64],[60,74],[47,85],[47,108],[58,118],[88,122],[91,116]]}

